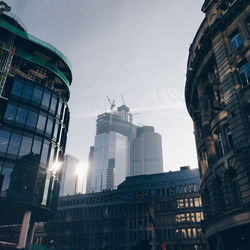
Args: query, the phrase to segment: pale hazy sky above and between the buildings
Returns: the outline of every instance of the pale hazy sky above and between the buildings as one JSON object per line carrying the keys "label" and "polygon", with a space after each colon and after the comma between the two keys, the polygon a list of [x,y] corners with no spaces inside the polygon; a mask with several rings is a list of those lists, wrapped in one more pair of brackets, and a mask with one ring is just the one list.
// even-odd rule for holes
{"label": "pale hazy sky above and between the buildings", "polygon": [[[13,13],[19,1],[6,0]],[[96,116],[121,105],[135,123],[162,135],[164,168],[197,167],[184,102],[188,49],[204,17],[201,0],[26,0],[28,32],[61,50],[73,66],[67,153],[87,162]]]}

